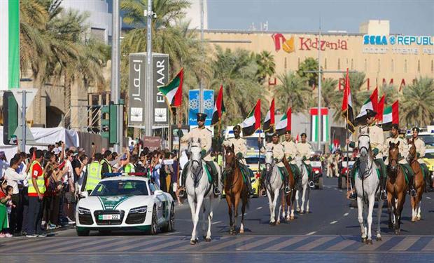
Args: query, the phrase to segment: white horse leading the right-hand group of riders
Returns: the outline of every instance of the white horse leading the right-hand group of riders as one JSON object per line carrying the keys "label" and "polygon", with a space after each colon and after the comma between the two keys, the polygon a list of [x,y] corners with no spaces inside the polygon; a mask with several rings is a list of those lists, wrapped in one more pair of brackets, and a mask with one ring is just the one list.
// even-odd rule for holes
{"label": "white horse leading the right-hand group of riders", "polygon": [[[357,208],[358,208],[358,222],[360,223],[360,231],[362,242],[372,245],[372,212],[374,210],[375,196],[379,190],[379,178],[377,176],[377,166],[375,165],[372,156],[372,149],[370,147],[370,137],[364,131],[358,137],[358,149],[360,152],[360,166],[356,180],[354,182],[357,193]],[[383,201],[379,198],[377,210],[377,241],[381,241],[381,209],[383,208]],[[367,226],[363,218],[363,210],[367,209]]]}

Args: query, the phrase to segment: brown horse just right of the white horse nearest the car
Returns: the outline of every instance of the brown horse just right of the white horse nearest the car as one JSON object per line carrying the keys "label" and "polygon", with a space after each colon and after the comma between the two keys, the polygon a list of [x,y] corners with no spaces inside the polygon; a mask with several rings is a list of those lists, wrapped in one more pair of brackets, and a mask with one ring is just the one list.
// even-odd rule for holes
{"label": "brown horse just right of the white horse nearest the car", "polygon": [[[244,184],[239,161],[235,156],[234,144],[231,147],[225,147],[225,152],[226,166],[223,189],[225,189],[226,202],[228,202],[229,233],[232,235],[237,234],[238,205],[241,199],[241,226],[239,227],[239,233],[242,234],[244,233],[244,213],[246,212],[246,206],[248,206],[248,189]],[[247,180],[249,179],[247,178]],[[232,220],[232,209],[235,213],[234,220]]]}

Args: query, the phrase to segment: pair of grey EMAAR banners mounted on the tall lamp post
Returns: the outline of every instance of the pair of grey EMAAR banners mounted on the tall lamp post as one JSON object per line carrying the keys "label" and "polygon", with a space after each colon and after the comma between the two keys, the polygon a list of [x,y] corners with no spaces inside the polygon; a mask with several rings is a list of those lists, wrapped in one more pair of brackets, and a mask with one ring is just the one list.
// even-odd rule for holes
{"label": "pair of grey EMAAR banners mounted on the tall lamp post", "polygon": [[145,114],[152,114],[153,127],[169,126],[169,107],[158,88],[169,82],[169,55],[153,53],[153,112],[146,113],[146,53],[130,54],[128,126],[145,126]]}

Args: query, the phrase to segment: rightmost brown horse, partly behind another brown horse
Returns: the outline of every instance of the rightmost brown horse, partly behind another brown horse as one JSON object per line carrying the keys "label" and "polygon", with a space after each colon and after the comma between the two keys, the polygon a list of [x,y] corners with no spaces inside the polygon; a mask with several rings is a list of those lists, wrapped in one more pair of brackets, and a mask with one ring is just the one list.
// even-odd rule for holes
{"label": "rightmost brown horse, partly behind another brown horse", "polygon": [[421,201],[423,189],[425,189],[425,180],[423,180],[423,173],[419,161],[417,161],[416,146],[414,139],[409,140],[409,154],[407,161],[412,166],[414,172],[414,189],[416,189],[416,196],[410,197],[412,201],[412,222],[421,220]]}

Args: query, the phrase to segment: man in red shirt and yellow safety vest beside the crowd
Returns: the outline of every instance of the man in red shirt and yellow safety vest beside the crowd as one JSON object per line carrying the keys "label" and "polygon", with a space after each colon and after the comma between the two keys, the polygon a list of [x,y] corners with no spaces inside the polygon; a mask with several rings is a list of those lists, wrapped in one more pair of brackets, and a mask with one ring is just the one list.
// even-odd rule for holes
{"label": "man in red shirt and yellow safety vest beside the crowd", "polygon": [[45,193],[45,178],[41,166],[43,152],[36,150],[36,159],[31,163],[29,170],[29,208],[27,212],[27,237],[45,237],[41,228],[42,220],[42,201]]}

